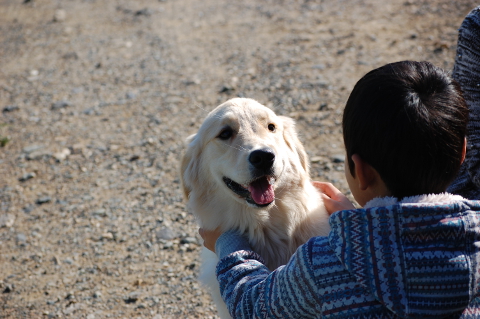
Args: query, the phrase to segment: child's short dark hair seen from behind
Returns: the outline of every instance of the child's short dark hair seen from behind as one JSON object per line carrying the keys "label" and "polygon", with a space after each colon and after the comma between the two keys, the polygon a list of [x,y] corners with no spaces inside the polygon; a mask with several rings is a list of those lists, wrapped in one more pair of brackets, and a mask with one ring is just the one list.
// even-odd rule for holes
{"label": "child's short dark hair seen from behind", "polygon": [[394,197],[444,192],[461,165],[468,112],[458,83],[429,62],[370,71],[343,113],[352,176],[351,157],[358,154]]}

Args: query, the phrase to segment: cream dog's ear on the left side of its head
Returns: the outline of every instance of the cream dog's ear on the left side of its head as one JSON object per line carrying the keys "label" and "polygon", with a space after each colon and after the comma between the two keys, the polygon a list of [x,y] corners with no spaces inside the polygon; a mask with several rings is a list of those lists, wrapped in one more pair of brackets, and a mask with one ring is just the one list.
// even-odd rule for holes
{"label": "cream dog's ear on the left side of its head", "polygon": [[197,145],[199,142],[195,137],[196,134],[193,134],[187,138],[187,151],[183,155],[180,164],[180,180],[182,182],[183,195],[186,200],[188,200],[195,181],[198,180],[200,147]]}

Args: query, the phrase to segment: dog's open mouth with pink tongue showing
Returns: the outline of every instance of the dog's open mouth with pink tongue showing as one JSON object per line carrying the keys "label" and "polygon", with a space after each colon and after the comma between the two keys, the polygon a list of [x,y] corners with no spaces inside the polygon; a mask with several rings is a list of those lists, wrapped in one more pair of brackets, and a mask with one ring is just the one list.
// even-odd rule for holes
{"label": "dog's open mouth with pink tongue showing", "polygon": [[228,177],[223,177],[223,181],[235,194],[245,198],[252,205],[265,207],[275,200],[275,191],[273,190],[275,177],[273,176],[262,176],[247,186],[242,186]]}

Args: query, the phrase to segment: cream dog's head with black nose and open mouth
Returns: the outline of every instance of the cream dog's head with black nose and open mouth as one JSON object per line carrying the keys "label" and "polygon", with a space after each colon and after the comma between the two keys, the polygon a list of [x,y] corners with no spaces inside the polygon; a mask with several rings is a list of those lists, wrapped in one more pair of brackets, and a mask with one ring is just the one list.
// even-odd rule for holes
{"label": "cream dog's head with black nose and open mouth", "polygon": [[255,208],[273,205],[277,190],[308,176],[294,125],[251,99],[221,104],[188,138],[181,163],[185,197],[195,193],[195,205],[218,196]]}

